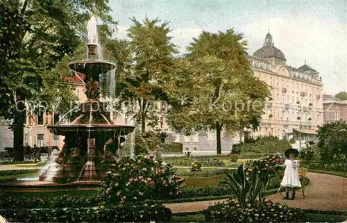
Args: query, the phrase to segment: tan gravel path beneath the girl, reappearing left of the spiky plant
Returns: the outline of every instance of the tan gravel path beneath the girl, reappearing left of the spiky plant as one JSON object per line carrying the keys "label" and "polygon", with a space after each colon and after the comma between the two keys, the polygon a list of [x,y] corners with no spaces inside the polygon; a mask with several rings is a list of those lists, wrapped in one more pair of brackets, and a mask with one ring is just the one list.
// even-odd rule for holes
{"label": "tan gravel path beneath the girl, reappearing left of the spiky plant", "polygon": [[[300,190],[294,201],[283,200],[280,194],[270,195],[267,199],[296,208],[347,211],[347,178],[313,172],[307,172],[306,176],[310,179],[310,183],[305,187],[305,198]],[[223,200],[164,204],[164,206],[170,208],[173,213],[196,212]]]}

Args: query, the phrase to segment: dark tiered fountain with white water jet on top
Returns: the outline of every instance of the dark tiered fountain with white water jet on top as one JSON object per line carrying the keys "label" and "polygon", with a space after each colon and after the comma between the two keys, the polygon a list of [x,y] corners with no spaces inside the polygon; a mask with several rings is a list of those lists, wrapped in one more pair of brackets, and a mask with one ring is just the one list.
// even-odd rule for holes
{"label": "dark tiered fountain with white water jet on top", "polygon": [[[65,144],[52,167],[42,172],[40,181],[99,182],[110,164],[117,161],[116,151],[121,149],[121,140],[134,129],[134,126],[115,125],[106,102],[101,101],[104,96],[101,83],[105,85],[111,80],[110,91],[115,90],[116,65],[100,60],[101,47],[94,16],[87,30],[87,60],[69,64],[75,74],[83,76],[87,101],[74,110],[70,119],[60,119],[57,124],[48,126],[52,133],[65,136]],[[108,149],[111,147],[113,149]]]}

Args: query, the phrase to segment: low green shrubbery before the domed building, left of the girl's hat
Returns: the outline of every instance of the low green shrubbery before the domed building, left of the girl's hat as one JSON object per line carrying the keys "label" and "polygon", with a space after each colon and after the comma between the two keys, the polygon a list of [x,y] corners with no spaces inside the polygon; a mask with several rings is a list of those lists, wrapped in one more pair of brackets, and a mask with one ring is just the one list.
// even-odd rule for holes
{"label": "low green shrubbery before the domed building, left of the girl's hat", "polygon": [[261,136],[251,143],[243,143],[239,145],[240,155],[246,153],[257,154],[284,154],[285,150],[291,145],[287,140],[280,140],[276,136]]}

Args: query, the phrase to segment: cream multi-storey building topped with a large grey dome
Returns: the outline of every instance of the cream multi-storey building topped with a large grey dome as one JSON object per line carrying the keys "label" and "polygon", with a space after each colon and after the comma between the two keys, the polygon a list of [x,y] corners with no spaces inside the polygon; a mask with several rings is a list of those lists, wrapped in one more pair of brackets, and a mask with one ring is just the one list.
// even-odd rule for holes
{"label": "cream multi-storey building topped with a large grey dome", "polygon": [[290,139],[301,132],[314,138],[318,125],[323,123],[323,83],[319,72],[306,62],[298,68],[287,65],[285,54],[274,46],[270,33],[266,34],[264,46],[249,60],[254,75],[271,90],[253,137],[276,135]]}

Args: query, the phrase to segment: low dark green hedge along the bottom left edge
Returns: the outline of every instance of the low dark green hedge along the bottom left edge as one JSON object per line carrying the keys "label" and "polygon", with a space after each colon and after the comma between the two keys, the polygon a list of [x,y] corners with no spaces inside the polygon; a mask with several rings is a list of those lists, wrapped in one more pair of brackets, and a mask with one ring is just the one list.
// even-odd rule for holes
{"label": "low dark green hedge along the bottom left edge", "polygon": [[171,210],[155,201],[129,202],[106,208],[6,209],[15,222],[168,222]]}

